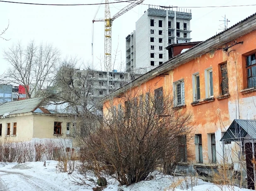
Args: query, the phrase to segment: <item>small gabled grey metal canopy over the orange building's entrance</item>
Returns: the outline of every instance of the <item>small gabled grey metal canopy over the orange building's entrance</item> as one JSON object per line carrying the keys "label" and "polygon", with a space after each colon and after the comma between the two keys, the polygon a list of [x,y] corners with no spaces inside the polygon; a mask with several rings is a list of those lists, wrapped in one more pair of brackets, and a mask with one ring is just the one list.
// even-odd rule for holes
{"label": "small gabled grey metal canopy over the orange building's entrance", "polygon": [[256,120],[235,119],[220,141],[222,141],[222,139],[239,141],[247,134],[249,134],[252,139],[256,139]]}

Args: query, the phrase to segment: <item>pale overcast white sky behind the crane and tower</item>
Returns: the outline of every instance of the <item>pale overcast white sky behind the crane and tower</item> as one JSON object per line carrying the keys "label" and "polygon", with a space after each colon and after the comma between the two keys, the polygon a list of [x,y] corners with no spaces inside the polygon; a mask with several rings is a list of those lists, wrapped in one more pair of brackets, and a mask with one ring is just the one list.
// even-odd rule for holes
{"label": "pale overcast white sky behind the crane and tower", "polygon": [[[14,0],[13,0],[14,1]],[[16,0],[18,2],[33,3],[99,3],[101,0]],[[109,0],[116,2],[116,0]],[[252,5],[255,0],[145,0],[145,4],[196,7],[196,6],[227,6]],[[129,3],[121,2],[110,5],[111,16]],[[13,43],[21,41],[26,45],[30,40],[47,42],[58,47],[62,57],[77,56],[85,63],[92,60],[92,19],[97,11],[95,5],[81,6],[42,6],[22,5],[0,2],[0,30],[10,22],[10,26],[3,36],[11,40],[0,40],[0,73],[3,73],[8,63],[3,59],[2,50]],[[118,50],[115,69],[121,69],[121,62],[125,65],[125,37],[135,30],[135,22],[140,18],[148,5],[138,5],[126,12],[113,22],[112,26],[112,64],[115,51]],[[219,8],[191,8],[191,41],[206,40],[215,35],[223,22],[222,16],[230,20],[228,27],[254,14],[256,6],[250,7],[219,7]],[[104,5],[101,5],[96,18],[104,18]],[[223,26],[223,25],[222,25]],[[94,68],[101,69],[100,58],[104,58],[104,23],[94,23]],[[102,66],[103,67],[103,66]],[[124,67],[123,67],[124,68]]]}

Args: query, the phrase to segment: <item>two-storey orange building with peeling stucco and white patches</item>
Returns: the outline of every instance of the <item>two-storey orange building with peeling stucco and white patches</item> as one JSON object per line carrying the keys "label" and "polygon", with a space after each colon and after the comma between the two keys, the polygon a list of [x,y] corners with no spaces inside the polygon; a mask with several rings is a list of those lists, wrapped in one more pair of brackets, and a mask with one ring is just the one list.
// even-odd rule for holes
{"label": "two-storey orange building with peeling stucco and white patches", "polygon": [[[163,87],[175,98],[173,109],[193,114],[195,139],[188,147],[193,158],[181,165],[193,163],[198,173],[208,174],[207,168],[217,169],[223,153],[229,152],[225,162],[239,170],[244,149],[231,139],[221,139],[235,119],[256,118],[255,30],[256,14],[119,88],[104,98],[103,111],[107,112],[110,100],[124,107],[120,96],[124,92],[145,94],[149,87]],[[246,174],[246,165],[243,169]]]}

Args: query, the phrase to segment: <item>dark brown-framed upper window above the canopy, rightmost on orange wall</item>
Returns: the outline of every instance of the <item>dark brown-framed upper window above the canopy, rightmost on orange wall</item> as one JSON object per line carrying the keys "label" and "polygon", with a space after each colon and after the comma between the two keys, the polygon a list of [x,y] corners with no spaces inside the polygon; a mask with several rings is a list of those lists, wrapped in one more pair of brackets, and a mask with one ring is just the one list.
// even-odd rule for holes
{"label": "dark brown-framed upper window above the canopy, rightmost on orange wall", "polygon": [[256,87],[256,57],[255,53],[246,57],[247,86]]}

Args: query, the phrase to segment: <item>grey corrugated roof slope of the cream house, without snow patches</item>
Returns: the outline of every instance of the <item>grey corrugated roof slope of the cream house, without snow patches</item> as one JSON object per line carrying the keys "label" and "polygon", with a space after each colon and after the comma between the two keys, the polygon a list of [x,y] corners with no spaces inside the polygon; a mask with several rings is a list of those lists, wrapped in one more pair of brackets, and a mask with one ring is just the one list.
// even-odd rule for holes
{"label": "grey corrugated roof slope of the cream house, without snow patches", "polygon": [[0,116],[10,114],[27,113],[33,111],[41,103],[43,98],[31,98],[19,101],[6,102],[0,105]]}

